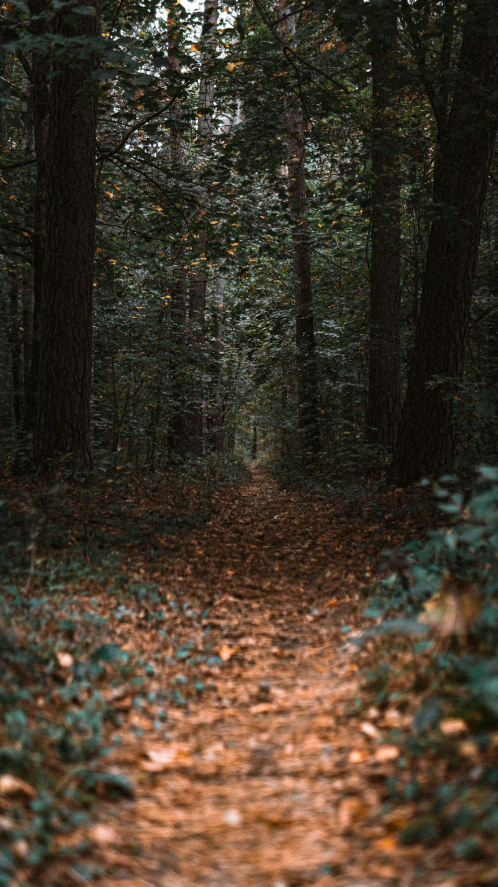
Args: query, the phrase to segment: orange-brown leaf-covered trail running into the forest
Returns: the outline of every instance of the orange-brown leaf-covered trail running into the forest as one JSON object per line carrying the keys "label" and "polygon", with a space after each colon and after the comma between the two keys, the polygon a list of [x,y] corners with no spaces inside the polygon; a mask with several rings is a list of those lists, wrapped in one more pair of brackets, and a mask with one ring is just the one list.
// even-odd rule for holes
{"label": "orange-brown leaf-covered trail running into the forest", "polygon": [[[395,848],[394,825],[377,818],[393,762],[376,757],[388,738],[364,734],[365,714],[354,713],[367,653],[348,638],[371,552],[355,547],[351,514],[254,472],[220,494],[210,522],[163,545],[162,588],[187,613],[207,602],[198,639],[225,661],[200,663],[204,691],[167,707],[162,724],[123,704],[112,764],[135,797],[102,805],[91,834],[106,873],[97,883],[440,883],[416,879],[421,849]],[[167,642],[152,629],[139,642],[156,651],[160,698]]]}

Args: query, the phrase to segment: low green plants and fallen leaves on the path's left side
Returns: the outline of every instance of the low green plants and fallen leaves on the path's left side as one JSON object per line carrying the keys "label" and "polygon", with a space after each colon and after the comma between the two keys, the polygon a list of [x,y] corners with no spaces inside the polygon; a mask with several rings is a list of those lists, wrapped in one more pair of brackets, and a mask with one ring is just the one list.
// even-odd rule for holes
{"label": "low green plants and fallen leaves on the path's left side", "polygon": [[[177,483],[144,490],[121,482],[86,490],[12,484],[4,497],[0,884],[41,883],[56,861],[77,882],[88,840],[67,836],[89,821],[96,797],[131,796],[129,782],[106,766],[109,727],[119,728],[124,696],[140,709],[153,673],[116,639],[116,626],[139,608],[137,618],[161,632],[173,611],[187,623],[189,649],[195,615],[143,580],[141,560],[158,561],[158,538],[206,521],[211,504],[206,490],[201,498]],[[174,687],[168,695],[182,697]]]}

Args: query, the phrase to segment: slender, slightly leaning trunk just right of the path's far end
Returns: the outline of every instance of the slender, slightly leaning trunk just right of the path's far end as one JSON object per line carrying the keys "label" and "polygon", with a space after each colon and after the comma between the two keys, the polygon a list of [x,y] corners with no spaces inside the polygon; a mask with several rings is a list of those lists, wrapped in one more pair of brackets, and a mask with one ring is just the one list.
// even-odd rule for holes
{"label": "slender, slightly leaning trunk just right of the path's far end", "polygon": [[[288,40],[295,31],[295,16],[281,0],[281,34]],[[307,219],[305,136],[297,84],[289,77],[284,92],[287,128],[287,192],[292,222],[292,276],[296,310],[296,369],[298,378],[298,429],[300,452],[307,459],[320,449],[315,327],[311,287],[311,243]]]}

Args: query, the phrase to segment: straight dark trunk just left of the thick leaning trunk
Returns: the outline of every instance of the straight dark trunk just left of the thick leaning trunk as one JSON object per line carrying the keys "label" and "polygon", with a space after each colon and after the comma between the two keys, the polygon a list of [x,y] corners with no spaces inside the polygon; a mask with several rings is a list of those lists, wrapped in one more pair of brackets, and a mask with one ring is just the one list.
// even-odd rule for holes
{"label": "straight dark trunk just left of the thick leaning trunk", "polygon": [[370,11],[372,187],[367,440],[393,450],[401,415],[399,133],[393,103],[397,20],[392,0]]}

